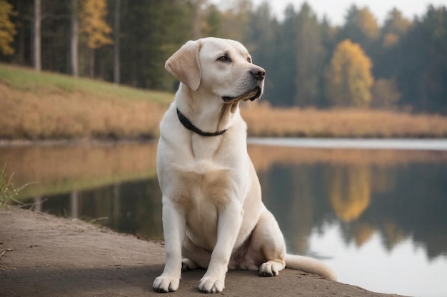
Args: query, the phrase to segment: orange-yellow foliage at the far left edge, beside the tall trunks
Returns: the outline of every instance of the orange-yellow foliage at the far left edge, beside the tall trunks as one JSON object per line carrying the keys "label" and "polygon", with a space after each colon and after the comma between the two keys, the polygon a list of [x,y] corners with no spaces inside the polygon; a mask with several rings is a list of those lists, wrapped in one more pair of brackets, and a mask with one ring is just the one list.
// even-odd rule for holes
{"label": "orange-yellow foliage at the far left edge, beside the tall trunks", "polygon": [[16,25],[9,19],[14,14],[12,5],[6,0],[0,0],[0,51],[4,55],[14,54],[14,49],[9,45],[17,34]]}

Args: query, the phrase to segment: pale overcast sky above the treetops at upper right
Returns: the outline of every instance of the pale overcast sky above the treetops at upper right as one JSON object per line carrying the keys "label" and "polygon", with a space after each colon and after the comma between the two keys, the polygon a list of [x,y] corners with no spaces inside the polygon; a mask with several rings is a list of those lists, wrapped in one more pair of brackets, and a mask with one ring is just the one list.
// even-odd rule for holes
{"label": "pale overcast sky above the treetops at upper right", "polygon": [[[253,0],[253,4],[258,6],[266,0]],[[267,1],[270,5],[273,14],[278,17],[283,16],[283,11],[286,9],[287,4],[291,3],[295,6],[296,10],[299,10],[304,0],[270,0]],[[307,3],[311,6],[313,11],[316,12],[319,19],[323,18],[326,14],[329,21],[333,25],[341,25],[344,23],[346,11],[352,4],[356,4],[358,8],[368,6],[370,11],[376,16],[379,24],[383,24],[383,20],[386,18],[393,7],[396,7],[402,11],[403,15],[408,19],[413,20],[415,15],[421,16],[426,13],[427,6],[433,4],[433,6],[447,6],[447,0],[308,0]]]}

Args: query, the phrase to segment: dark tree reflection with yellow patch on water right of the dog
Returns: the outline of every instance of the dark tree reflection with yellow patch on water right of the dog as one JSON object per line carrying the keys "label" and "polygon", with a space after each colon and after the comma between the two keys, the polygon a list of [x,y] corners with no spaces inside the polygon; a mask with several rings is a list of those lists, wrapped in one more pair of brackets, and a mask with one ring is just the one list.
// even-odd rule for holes
{"label": "dark tree reflection with yellow patch on water right of the dog", "polygon": [[378,232],[392,250],[405,238],[428,258],[447,254],[447,162],[391,167],[274,165],[258,173],[264,201],[289,238],[308,252],[312,228],[338,223],[343,241],[361,247]]}

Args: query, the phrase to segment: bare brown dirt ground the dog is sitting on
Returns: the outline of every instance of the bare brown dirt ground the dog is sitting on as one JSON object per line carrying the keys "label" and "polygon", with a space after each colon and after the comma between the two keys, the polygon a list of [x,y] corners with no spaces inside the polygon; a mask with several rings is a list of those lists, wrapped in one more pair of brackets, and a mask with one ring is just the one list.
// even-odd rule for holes
{"label": "bare brown dirt ground the dog is sitting on", "polygon": [[[0,209],[0,296],[155,296],[164,267],[161,243],[142,241],[89,223],[19,208]],[[183,273],[179,291],[207,296],[203,270]],[[214,296],[391,296],[285,269],[273,278],[228,271]]]}

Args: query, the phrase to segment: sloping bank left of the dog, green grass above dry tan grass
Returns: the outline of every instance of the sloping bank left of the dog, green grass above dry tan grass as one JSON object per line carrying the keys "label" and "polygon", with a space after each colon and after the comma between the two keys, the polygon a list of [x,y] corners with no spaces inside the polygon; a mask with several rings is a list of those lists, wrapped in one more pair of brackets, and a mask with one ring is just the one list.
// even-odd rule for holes
{"label": "sloping bank left of the dog, green grass above dry tan grass", "polygon": [[0,139],[154,138],[172,97],[0,64]]}

